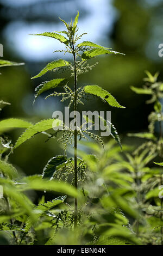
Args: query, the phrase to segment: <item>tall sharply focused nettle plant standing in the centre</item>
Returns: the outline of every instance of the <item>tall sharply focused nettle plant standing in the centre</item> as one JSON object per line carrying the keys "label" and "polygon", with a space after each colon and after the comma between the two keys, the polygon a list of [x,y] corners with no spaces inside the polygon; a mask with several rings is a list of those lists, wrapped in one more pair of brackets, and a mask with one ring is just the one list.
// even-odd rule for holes
{"label": "tall sharply focused nettle plant standing in the centre", "polygon": [[[74,127],[71,129],[71,127],[65,127],[63,124],[62,129],[62,136],[59,138],[59,141],[64,143],[65,145],[65,155],[59,155],[55,156],[52,159],[50,159],[43,169],[43,178],[53,179],[57,178],[57,172],[55,172],[56,167],[62,164],[62,167],[58,170],[58,172],[63,173],[64,171],[68,174],[73,174],[73,181],[72,184],[75,188],[78,188],[78,182],[83,180],[84,175],[84,162],[82,159],[79,159],[77,156],[77,144],[78,144],[78,138],[85,138],[87,139],[87,136],[90,136],[93,139],[96,139],[97,141],[102,143],[102,138],[98,135],[90,132],[88,130],[88,127],[85,130],[82,130],[82,126],[77,126],[77,120],[76,120],[76,112],[78,109],[78,104],[83,104],[83,99],[85,98],[85,95],[96,95],[100,97],[104,102],[109,103],[112,107],[120,107],[121,106],[116,99],[106,90],[103,88],[97,86],[97,85],[87,85],[84,87],[78,87],[78,77],[79,75],[82,75],[85,72],[90,71],[92,68],[94,68],[97,63],[90,65],[87,60],[100,56],[101,54],[123,54],[119,52],[112,51],[111,48],[103,47],[100,45],[97,45],[90,41],[83,41],[79,44],[77,41],[82,38],[82,35],[78,35],[78,17],[79,12],[74,19],[74,22],[71,21],[71,23],[66,23],[64,20],[61,20],[65,27],[66,31],[61,32],[45,32],[41,34],[41,36],[47,36],[49,38],[54,38],[59,40],[62,44],[65,45],[65,50],[62,51],[55,51],[55,52],[64,52],[69,53],[72,55],[73,63],[64,60],[64,59],[58,59],[54,60],[46,65],[45,68],[39,72],[38,75],[32,77],[37,78],[41,77],[42,75],[46,74],[48,71],[54,71],[54,72],[63,72],[63,71],[70,71],[70,77],[74,78],[74,84],[73,88],[68,87],[68,80],[67,78],[55,78],[51,81],[42,82],[39,86],[35,89],[35,100],[36,98],[43,92],[54,89],[58,86],[62,87],[64,89],[64,92],[58,93],[55,92],[52,94],[49,94],[46,99],[50,96],[61,96],[61,101],[65,101],[67,99],[70,100],[70,103],[68,107],[73,105],[73,111],[74,111]],[[91,120],[92,121],[92,120]],[[109,123],[108,121],[104,120],[105,125],[109,129]],[[85,123],[84,125],[89,124],[89,120],[85,117]],[[16,142],[15,148],[17,148],[20,144],[22,144],[24,141],[32,137],[33,135],[39,133],[39,132],[45,132],[48,129],[51,129],[53,125],[53,129],[56,127],[59,127],[62,125],[62,121],[59,119],[48,119],[48,120],[42,120],[39,123],[29,127],[27,131],[23,133],[23,135],[18,138],[18,141]],[[112,137],[116,139],[118,143],[120,143],[120,139],[117,135],[117,131],[115,127],[111,124],[110,133]],[[51,135],[49,137],[57,136],[57,133],[60,130],[56,131],[54,135]],[[74,157],[72,159],[67,159],[66,155],[66,147],[67,144],[73,144],[74,147]],[[103,143],[102,143],[103,144]],[[64,175],[64,174],[62,174]],[[77,227],[78,222],[78,199],[74,199],[74,227]]]}

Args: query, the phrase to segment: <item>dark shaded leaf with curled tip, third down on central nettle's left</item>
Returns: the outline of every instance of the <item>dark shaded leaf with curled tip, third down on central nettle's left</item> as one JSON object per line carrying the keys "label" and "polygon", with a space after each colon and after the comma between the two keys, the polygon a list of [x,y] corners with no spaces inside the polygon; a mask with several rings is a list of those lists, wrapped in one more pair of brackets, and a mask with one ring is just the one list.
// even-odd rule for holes
{"label": "dark shaded leaf with curled tip, third down on central nettle's left", "polygon": [[41,83],[39,86],[35,88],[35,99],[43,92],[46,92],[46,90],[53,89],[57,86],[65,86],[67,83],[66,78],[60,78],[60,79],[53,79],[51,81],[46,81]]}

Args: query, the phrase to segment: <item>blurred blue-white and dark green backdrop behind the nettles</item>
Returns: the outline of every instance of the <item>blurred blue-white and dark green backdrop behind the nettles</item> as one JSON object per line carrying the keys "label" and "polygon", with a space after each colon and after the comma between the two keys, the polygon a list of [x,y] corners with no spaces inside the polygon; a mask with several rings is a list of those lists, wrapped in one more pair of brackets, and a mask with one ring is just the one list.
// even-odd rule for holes
{"label": "blurred blue-white and dark green backdrop behind the nettles", "polygon": [[[2,118],[19,117],[32,122],[52,118],[55,110],[64,109],[57,97],[45,100],[46,93],[36,100],[34,88],[42,81],[59,77],[53,72],[30,80],[47,62],[62,58],[64,45],[57,40],[29,34],[54,32],[64,29],[58,19],[71,21],[79,10],[79,33],[87,32],[83,40],[94,41],[126,56],[96,58],[99,65],[79,77],[79,86],[98,84],[116,97],[126,109],[115,109],[101,100],[85,102],[83,110],[111,111],[112,123],[120,133],[122,142],[136,145],[137,139],[128,132],[147,130],[147,115],[152,106],[145,105],[148,96],[136,95],[130,86],[141,87],[144,71],[160,71],[163,80],[162,58],[158,46],[163,43],[162,0],[0,0],[0,43],[4,46],[4,59],[24,62],[26,65],[2,68],[0,97],[11,103],[1,112]],[[66,57],[70,60],[70,56]],[[93,59],[95,62],[96,59]],[[72,86],[70,83],[69,86]],[[15,142],[22,130],[9,132]],[[107,141],[109,138],[105,138]],[[37,135],[10,155],[10,161],[24,173],[42,173],[50,157],[62,153],[59,143]],[[142,142],[142,141],[141,141]]]}

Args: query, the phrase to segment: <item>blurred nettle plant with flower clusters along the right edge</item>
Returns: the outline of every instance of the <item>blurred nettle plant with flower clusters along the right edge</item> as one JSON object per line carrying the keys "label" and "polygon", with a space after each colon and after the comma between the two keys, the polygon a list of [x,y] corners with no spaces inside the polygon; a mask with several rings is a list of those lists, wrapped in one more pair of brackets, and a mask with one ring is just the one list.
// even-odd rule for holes
{"label": "blurred nettle plant with flower clusters along the right edge", "polygon": [[[158,81],[159,73],[152,75],[146,71],[147,77],[144,78],[143,88],[131,87],[137,94],[151,95],[151,99],[146,103],[153,103],[153,111],[148,116],[148,132],[129,133],[129,136],[135,136],[147,139],[147,142],[140,145],[134,151],[134,156],[127,155],[128,163],[122,163],[126,166],[131,176],[134,178],[135,208],[139,211],[139,216],[134,222],[133,228],[136,229],[137,236],[144,239],[145,243],[154,245],[163,245],[163,222],[162,222],[162,169],[147,167],[155,157],[162,160],[162,105],[160,103],[163,97],[163,84]],[[155,162],[154,162],[155,163]],[[162,163],[155,163],[162,166]],[[143,228],[142,228],[143,227]]]}

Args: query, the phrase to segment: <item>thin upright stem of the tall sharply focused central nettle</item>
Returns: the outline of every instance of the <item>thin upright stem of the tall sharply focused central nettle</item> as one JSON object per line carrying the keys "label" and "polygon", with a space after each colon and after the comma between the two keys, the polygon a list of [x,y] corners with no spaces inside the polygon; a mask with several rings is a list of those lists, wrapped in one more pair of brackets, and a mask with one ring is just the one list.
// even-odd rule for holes
{"label": "thin upright stem of the tall sharply focused central nettle", "polygon": [[[72,38],[73,60],[74,60],[74,114],[77,111],[77,66],[76,53],[74,51],[74,42]],[[77,124],[76,124],[77,125]],[[78,169],[77,169],[77,128],[74,130],[74,187],[78,189]],[[78,198],[74,199],[74,229],[78,223]]]}

